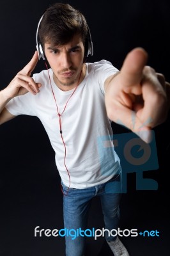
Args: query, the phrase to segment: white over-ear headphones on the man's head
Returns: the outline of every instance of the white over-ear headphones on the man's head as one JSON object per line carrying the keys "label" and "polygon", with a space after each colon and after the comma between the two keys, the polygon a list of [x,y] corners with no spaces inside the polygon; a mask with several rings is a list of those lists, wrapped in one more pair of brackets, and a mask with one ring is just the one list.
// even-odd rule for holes
{"label": "white over-ear headphones on the man's head", "polygon": [[[39,30],[40,23],[41,23],[42,19],[43,19],[43,15],[42,15],[41,19],[39,20],[38,26],[37,26],[37,29],[36,29],[36,49],[38,51],[39,60],[40,60],[40,58],[45,60],[45,54],[43,53],[42,44],[40,42],[38,42],[38,30]],[[89,55],[91,55],[91,56],[93,55],[93,42],[91,41],[91,33],[90,33],[89,27],[88,27],[88,52],[87,52],[86,57],[88,57]]]}

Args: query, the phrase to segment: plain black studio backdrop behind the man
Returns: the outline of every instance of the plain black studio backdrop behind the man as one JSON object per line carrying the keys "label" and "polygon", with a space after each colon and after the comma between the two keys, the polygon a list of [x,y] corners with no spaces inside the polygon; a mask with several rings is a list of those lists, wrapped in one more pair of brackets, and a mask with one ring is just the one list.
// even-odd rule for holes
{"label": "plain black studio backdrop behind the man", "polygon": [[[0,90],[30,60],[35,51],[38,20],[45,8],[55,2],[1,0]],[[105,59],[121,68],[128,51],[141,46],[148,51],[148,65],[170,81],[169,1],[62,2],[81,10],[88,20],[94,47],[94,55],[89,61]],[[42,68],[44,65],[40,61],[35,72]],[[116,124],[113,128],[116,133],[126,132]],[[121,201],[121,228],[143,227],[160,231],[160,237],[150,239],[127,237],[125,243],[131,255],[137,256],[169,253],[169,118],[154,130],[159,168],[149,176],[157,180],[158,191],[135,191],[134,176],[131,175],[128,193]],[[63,256],[64,239],[34,237],[37,225],[51,229],[63,227],[59,175],[54,152],[40,121],[35,117],[19,116],[2,125],[0,152],[0,255]],[[97,225],[97,228],[102,227],[102,216],[96,214],[98,208],[100,205],[96,201],[89,218],[89,225]],[[97,252],[98,255],[109,255],[98,241],[89,239],[88,255],[97,255]]]}

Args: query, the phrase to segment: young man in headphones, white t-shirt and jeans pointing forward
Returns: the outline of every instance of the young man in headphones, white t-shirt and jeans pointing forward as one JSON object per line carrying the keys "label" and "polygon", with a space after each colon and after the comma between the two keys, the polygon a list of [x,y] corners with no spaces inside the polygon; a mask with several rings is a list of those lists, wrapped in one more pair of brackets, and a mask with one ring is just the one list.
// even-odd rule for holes
{"label": "young man in headphones, white t-shirt and jeans pointing forward", "polygon": [[[91,199],[98,195],[105,228],[118,229],[120,159],[113,145],[105,154],[98,140],[105,136],[112,143],[114,121],[149,142],[151,128],[166,118],[169,84],[145,66],[147,54],[140,48],[127,55],[120,72],[109,61],[86,63],[93,54],[88,24],[69,4],[56,3],[45,11],[36,47],[31,61],[0,92],[0,124],[17,115],[38,116],[42,121],[56,152],[65,228],[85,230]],[[38,56],[50,68],[31,77]],[[144,125],[146,120],[150,123]],[[66,255],[84,255],[85,238],[66,237]],[[105,239],[114,256],[128,256],[118,236],[105,232]]]}

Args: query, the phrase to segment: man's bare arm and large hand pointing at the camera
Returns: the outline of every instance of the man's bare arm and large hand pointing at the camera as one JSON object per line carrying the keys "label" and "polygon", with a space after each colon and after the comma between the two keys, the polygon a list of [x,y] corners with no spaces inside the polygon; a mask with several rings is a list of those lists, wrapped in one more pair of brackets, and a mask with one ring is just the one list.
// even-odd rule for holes
{"label": "man's bare arm and large hand pointing at the camera", "polygon": [[166,120],[170,86],[147,59],[141,48],[128,53],[120,72],[105,81],[105,106],[109,119],[150,142],[150,130]]}

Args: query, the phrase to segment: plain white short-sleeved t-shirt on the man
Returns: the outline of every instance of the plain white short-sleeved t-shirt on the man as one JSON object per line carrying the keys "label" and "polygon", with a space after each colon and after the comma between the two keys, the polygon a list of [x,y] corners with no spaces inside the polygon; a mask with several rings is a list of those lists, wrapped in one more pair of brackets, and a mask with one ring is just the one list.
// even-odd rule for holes
{"label": "plain white short-sleeved t-shirt on the man", "polygon": [[[70,184],[70,188],[97,186],[120,172],[120,159],[113,145],[105,147],[105,141],[111,141],[112,127],[104,102],[104,81],[118,72],[118,69],[106,60],[86,65],[86,76],[75,93],[74,89],[66,92],[60,90],[53,81],[52,70],[49,69],[49,74],[48,70],[43,70],[33,75],[35,82],[42,84],[40,93],[26,93],[15,97],[6,105],[12,115],[40,118],[56,153],[56,165],[61,179],[65,186]],[[52,89],[59,113],[63,112],[73,93],[61,115],[66,158]]]}

